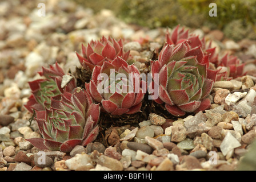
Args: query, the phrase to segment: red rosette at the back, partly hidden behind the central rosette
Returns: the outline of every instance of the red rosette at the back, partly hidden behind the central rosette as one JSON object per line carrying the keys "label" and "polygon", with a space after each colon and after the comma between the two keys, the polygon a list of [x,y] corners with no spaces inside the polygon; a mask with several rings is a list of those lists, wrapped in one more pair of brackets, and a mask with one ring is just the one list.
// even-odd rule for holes
{"label": "red rosette at the back, partly hidden behind the central rosette", "polygon": [[122,39],[117,42],[110,36],[108,39],[103,36],[100,40],[91,40],[87,47],[82,44],[82,55],[77,53],[77,56],[83,68],[93,71],[95,65],[101,66],[103,61],[114,60],[117,56],[127,60],[129,53],[123,51]]}

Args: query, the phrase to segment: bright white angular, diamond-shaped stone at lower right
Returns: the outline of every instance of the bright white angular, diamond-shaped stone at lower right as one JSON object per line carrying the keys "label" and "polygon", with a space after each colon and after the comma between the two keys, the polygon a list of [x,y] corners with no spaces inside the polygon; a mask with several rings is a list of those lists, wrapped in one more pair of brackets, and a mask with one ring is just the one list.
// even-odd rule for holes
{"label": "bright white angular, diamond-shaped stone at lower right", "polygon": [[240,146],[241,143],[238,142],[238,140],[235,137],[233,137],[233,135],[230,132],[228,132],[225,138],[222,140],[220,149],[222,154],[226,156],[229,151]]}

